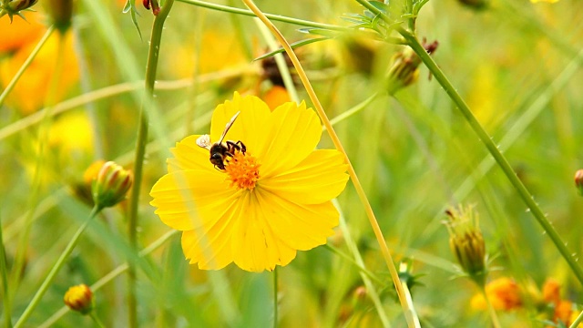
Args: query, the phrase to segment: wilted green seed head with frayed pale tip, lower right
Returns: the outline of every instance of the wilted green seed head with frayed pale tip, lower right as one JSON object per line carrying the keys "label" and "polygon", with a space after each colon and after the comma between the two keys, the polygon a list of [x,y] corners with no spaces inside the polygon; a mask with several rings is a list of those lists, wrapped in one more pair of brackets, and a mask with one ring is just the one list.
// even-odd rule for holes
{"label": "wilted green seed head with frayed pale tip, lower right", "polygon": [[449,247],[462,270],[478,285],[486,283],[486,243],[478,227],[477,213],[472,206],[445,210],[449,231]]}

